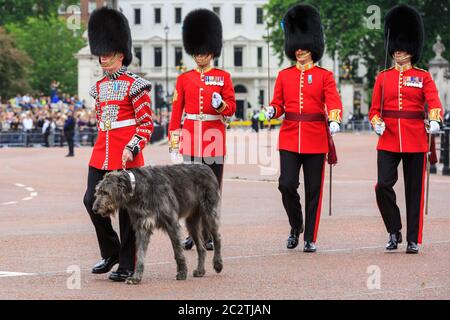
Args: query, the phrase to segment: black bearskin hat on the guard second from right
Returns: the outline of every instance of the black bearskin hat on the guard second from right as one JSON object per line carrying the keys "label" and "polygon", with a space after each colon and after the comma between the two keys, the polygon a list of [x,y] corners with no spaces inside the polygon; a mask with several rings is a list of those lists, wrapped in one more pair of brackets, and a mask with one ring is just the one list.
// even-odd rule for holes
{"label": "black bearskin hat on the guard second from right", "polygon": [[283,18],[284,51],[295,61],[298,49],[309,50],[314,62],[319,61],[325,50],[320,14],[316,8],[299,4],[290,8]]}

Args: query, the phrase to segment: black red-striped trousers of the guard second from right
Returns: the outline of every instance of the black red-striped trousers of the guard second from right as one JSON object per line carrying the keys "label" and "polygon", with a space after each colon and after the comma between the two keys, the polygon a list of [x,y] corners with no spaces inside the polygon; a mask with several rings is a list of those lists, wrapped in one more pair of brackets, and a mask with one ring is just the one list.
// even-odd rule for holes
{"label": "black red-striped trousers of the guard second from right", "polygon": [[303,224],[302,207],[298,187],[300,168],[303,165],[305,183],[305,241],[315,242],[322,209],[322,189],[325,174],[325,154],[299,154],[280,150],[281,175],[278,189],[291,228],[300,229]]}

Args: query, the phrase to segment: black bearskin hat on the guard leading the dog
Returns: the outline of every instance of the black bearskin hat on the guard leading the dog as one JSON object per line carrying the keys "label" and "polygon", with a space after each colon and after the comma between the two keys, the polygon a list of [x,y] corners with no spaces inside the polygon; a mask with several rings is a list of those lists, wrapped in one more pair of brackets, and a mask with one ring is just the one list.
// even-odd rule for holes
{"label": "black bearskin hat on the guard leading the dog", "polygon": [[121,52],[124,54],[125,66],[133,60],[130,26],[121,12],[107,7],[92,12],[88,23],[88,37],[93,55]]}

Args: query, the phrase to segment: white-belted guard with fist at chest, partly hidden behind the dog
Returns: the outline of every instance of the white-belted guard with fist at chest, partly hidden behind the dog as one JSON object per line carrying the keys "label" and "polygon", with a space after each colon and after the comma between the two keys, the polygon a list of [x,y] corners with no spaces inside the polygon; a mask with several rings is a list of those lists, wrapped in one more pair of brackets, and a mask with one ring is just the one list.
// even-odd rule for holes
{"label": "white-belted guard with fist at chest, partly hidden behind the dog", "polygon": [[[183,45],[197,68],[177,79],[169,124],[170,150],[172,154],[181,153],[187,163],[207,164],[221,186],[226,118],[234,115],[236,99],[230,74],[211,67],[222,50],[219,17],[206,9],[190,12],[183,22]],[[183,245],[192,248],[192,239],[189,237]],[[212,250],[212,241],[207,241],[206,247]]]}

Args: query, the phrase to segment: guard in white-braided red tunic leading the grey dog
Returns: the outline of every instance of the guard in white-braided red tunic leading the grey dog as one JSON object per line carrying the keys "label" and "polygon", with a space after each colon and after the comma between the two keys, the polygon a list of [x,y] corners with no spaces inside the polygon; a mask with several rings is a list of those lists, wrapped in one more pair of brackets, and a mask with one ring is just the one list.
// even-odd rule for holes
{"label": "guard in white-braided red tunic leading the grey dog", "polygon": [[95,214],[92,206],[95,187],[107,172],[144,165],[141,151],[153,130],[151,85],[127,70],[133,55],[130,28],[122,13],[107,8],[94,11],[88,33],[91,52],[99,57],[104,70],[103,78],[90,92],[95,99],[98,138],[89,162],[84,204],[95,226],[103,258],[92,273],[107,273],[119,263],[109,278],[125,281],[133,273],[135,263],[135,237],[128,213],[119,210],[119,240],[110,218]]}

